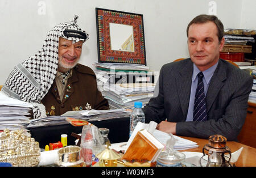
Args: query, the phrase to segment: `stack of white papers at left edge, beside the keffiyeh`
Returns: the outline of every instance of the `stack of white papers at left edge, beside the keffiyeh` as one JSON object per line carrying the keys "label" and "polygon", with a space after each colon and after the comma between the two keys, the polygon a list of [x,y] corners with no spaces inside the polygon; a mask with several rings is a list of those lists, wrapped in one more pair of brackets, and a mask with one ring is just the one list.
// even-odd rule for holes
{"label": "stack of white papers at left edge, beside the keffiyeh", "polygon": [[0,92],[0,130],[24,129],[31,119],[33,106]]}

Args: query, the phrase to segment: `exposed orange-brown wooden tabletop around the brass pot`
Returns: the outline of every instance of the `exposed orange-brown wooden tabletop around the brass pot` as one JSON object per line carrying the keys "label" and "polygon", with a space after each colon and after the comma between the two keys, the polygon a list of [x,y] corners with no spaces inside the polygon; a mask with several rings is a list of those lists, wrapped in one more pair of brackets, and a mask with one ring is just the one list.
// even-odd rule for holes
{"label": "exposed orange-brown wooden tabletop around the brass pot", "polygon": [[[197,145],[199,145],[199,147],[197,148],[183,150],[183,151],[202,152],[204,145],[208,144],[208,139],[193,138],[193,137],[181,137],[181,138],[189,139],[193,142],[196,142]],[[226,143],[226,146],[230,148],[231,152],[237,151],[238,149],[243,147],[241,155],[236,162],[237,167],[256,166],[256,149],[250,146],[243,145],[242,143],[234,142],[234,141],[228,141]]]}

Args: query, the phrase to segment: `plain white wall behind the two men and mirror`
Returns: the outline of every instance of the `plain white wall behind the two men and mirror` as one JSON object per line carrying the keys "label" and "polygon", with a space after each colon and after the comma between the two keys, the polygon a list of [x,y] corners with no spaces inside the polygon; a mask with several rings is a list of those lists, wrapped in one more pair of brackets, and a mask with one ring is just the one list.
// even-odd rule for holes
{"label": "plain white wall behind the two men and mirror", "polygon": [[[46,5],[45,15],[42,2]],[[89,33],[80,63],[92,67],[97,57],[95,7],[143,14],[147,65],[159,71],[164,63],[188,57],[187,24],[208,14],[210,0],[0,0],[0,84],[13,67],[34,55],[57,23],[79,15],[77,24]],[[256,28],[255,0],[215,0],[225,28]],[[247,9],[250,11],[247,11]],[[43,14],[42,14],[43,13]],[[93,67],[92,67],[93,68]]]}

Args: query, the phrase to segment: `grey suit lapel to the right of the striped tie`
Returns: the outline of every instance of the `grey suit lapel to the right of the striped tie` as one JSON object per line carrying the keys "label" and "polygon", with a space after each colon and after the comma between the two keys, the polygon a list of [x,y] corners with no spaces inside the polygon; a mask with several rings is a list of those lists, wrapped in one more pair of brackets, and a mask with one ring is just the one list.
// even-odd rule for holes
{"label": "grey suit lapel to the right of the striped tie", "polygon": [[214,71],[212,79],[210,79],[209,88],[207,91],[207,112],[212,107],[213,101],[216,99],[226,79],[226,70],[221,60],[218,61],[217,69]]}

